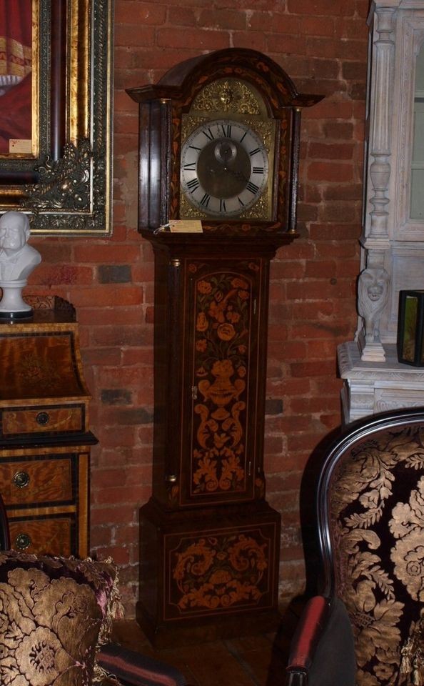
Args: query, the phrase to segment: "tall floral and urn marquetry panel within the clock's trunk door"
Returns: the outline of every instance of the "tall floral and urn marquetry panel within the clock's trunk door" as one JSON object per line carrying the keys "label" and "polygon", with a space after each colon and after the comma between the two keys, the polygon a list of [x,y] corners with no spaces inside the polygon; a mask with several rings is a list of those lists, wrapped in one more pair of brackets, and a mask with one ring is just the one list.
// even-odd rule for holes
{"label": "tall floral and urn marquetry panel within the clock's trunk door", "polygon": [[[257,262],[246,267],[253,276],[259,271]],[[191,491],[241,492],[246,489],[253,279],[205,272],[196,263],[189,271],[195,299]]]}

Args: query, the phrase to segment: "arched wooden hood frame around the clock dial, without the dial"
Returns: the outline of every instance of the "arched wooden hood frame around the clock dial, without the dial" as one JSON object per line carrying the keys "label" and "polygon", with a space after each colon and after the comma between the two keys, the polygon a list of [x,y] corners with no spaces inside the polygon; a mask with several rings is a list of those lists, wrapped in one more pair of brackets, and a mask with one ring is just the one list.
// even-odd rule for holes
{"label": "arched wooden hood frame around the clock dial, without the dial", "polygon": [[[229,101],[220,100],[216,92],[215,98],[204,96],[216,82],[224,86],[224,93],[230,91]],[[256,95],[256,112],[248,101],[249,89],[251,100]],[[273,129],[268,215],[258,209],[231,219],[198,213],[203,234],[296,232],[301,109],[323,96],[299,94],[275,61],[257,51],[236,48],[188,59],[170,69],[157,84],[128,89],[127,93],[139,103],[138,227],[142,233],[153,232],[170,219],[188,218],[184,216],[186,198],[181,192],[180,164],[183,136],[190,129],[185,119],[190,116],[197,121],[237,119],[250,123],[256,119],[261,126],[266,122]],[[207,103],[206,109],[198,109],[199,102],[201,107]]]}

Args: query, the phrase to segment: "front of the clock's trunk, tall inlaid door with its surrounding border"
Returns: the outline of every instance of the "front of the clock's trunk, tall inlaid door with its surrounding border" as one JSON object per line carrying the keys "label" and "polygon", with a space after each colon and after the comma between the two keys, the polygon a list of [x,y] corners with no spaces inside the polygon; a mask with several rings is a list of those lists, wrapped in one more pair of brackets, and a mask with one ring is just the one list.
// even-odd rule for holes
{"label": "front of the clock's trunk, tall inlaid door with its surrounding border", "polygon": [[186,260],[181,505],[251,500],[263,485],[256,410],[264,262]]}

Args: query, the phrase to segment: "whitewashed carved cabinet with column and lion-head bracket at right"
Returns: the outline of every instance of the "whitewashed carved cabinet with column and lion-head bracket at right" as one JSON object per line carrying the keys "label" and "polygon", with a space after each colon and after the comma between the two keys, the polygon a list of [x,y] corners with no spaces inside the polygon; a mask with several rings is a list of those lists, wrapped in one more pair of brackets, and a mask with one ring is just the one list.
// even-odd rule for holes
{"label": "whitewashed carved cabinet with column and lion-head bracket at right", "polygon": [[[365,149],[358,329],[355,342],[338,349],[340,376],[345,379],[345,419],[389,407],[412,406],[418,399],[418,404],[424,404],[423,379],[420,390],[414,369],[400,365],[403,382],[397,385],[393,381],[393,364],[396,374],[400,373],[395,355],[399,291],[424,289],[424,211],[417,219],[411,199],[413,170],[424,173],[424,159],[420,159],[424,154],[419,154],[423,143],[416,144],[416,134],[414,139],[417,103],[424,102],[424,0],[374,0],[368,25],[369,137]],[[349,363],[345,359],[347,349]],[[371,370],[376,373],[376,369],[380,369],[382,383],[385,379],[385,388],[392,389],[388,404],[376,402],[377,396],[368,385],[373,383],[368,374]]]}

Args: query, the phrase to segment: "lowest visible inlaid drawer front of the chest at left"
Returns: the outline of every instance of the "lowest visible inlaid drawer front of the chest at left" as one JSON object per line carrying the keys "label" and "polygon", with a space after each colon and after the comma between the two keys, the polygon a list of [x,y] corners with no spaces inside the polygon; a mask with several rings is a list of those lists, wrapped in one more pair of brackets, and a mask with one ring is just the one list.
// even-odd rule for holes
{"label": "lowest visible inlaid drawer front of the chest at left", "polygon": [[[75,517],[10,520],[11,547],[36,555],[64,555],[74,550]],[[73,545],[74,543],[74,545]]]}

